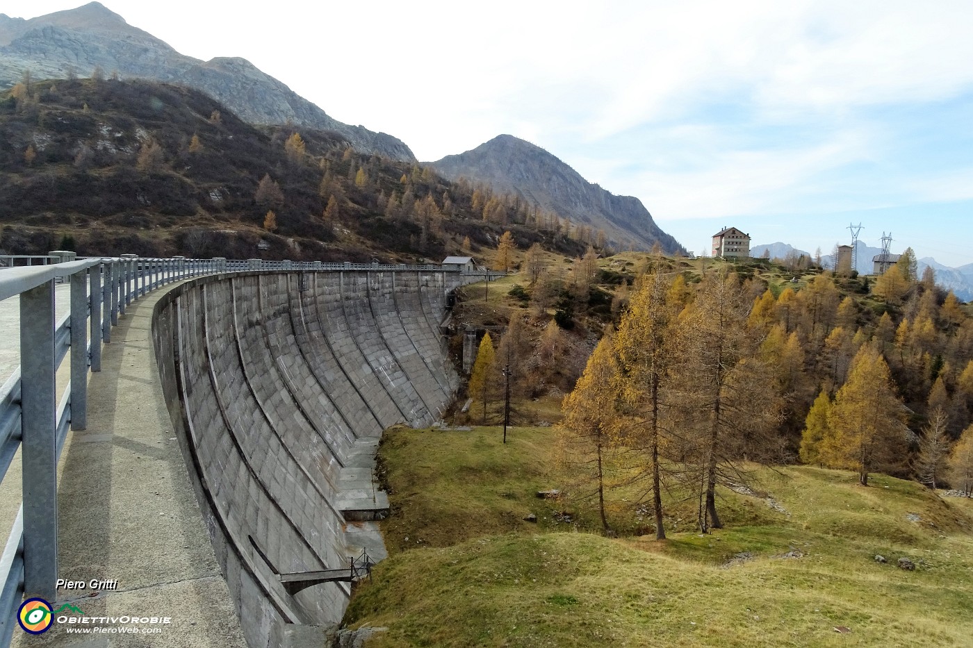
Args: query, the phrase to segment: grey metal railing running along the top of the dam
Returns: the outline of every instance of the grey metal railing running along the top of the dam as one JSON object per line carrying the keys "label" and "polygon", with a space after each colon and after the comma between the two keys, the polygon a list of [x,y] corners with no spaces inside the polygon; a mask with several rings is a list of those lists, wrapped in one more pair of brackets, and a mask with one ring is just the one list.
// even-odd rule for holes
{"label": "grey metal railing running along the top of the dam", "polygon": [[[19,296],[20,309],[19,367],[0,387],[0,482],[18,450],[22,464],[22,504],[0,556],[0,646],[10,644],[25,594],[49,602],[56,597],[57,461],[68,429],[87,427],[88,372],[101,371],[101,345],[111,342],[112,327],[126,306],[172,281],[220,272],[460,272],[439,265],[140,259],[134,255],[69,261],[73,258],[73,253],[18,256],[16,267],[0,267],[0,301]],[[0,263],[11,259],[0,257]],[[54,311],[56,282],[70,283],[70,312],[59,321]],[[70,379],[58,398],[56,374],[68,354]]]}

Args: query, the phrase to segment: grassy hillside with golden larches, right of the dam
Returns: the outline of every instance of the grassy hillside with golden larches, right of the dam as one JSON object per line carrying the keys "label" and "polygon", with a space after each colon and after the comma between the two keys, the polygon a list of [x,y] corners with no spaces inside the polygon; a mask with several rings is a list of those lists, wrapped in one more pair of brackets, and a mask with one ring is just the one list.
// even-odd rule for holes
{"label": "grassy hillside with golden larches, right of the dam", "polygon": [[970,645],[973,320],[905,256],[851,278],[513,251],[454,311],[492,358],[454,420],[502,418],[509,362],[516,426],[386,432],[391,557],[346,624],[387,627],[373,647]]}

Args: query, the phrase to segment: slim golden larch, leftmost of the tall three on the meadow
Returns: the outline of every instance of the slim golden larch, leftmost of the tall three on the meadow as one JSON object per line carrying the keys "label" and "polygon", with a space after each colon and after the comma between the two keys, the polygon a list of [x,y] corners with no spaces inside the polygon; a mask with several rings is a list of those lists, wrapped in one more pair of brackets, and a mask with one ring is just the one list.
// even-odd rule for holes
{"label": "slim golden larch, leftmost of the tall three on the meadow", "polygon": [[596,484],[598,514],[606,533],[611,531],[611,526],[605,515],[605,464],[618,420],[614,389],[618,365],[612,346],[607,337],[595,346],[584,374],[578,378],[574,390],[564,397],[561,408],[564,418],[559,424],[560,441],[568,462],[587,473]]}

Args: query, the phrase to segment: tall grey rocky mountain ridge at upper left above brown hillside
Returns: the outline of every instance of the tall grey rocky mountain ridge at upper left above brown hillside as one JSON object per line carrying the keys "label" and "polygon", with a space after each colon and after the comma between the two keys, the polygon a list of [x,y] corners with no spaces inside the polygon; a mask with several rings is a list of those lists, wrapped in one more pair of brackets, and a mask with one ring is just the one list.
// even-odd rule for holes
{"label": "tall grey rocky mountain ridge at upper left above brown hillside", "polygon": [[329,117],[243,58],[201,61],[126,23],[97,2],[39,18],[0,14],[0,87],[17,83],[24,70],[34,79],[59,79],[74,72],[153,79],[202,90],[252,124],[285,124],[334,130],[364,153],[414,162],[401,140]]}

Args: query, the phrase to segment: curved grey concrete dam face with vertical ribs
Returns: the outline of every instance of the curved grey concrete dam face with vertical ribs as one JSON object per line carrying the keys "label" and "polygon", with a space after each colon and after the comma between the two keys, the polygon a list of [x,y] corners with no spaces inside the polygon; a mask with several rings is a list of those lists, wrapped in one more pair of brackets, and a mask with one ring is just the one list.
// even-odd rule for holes
{"label": "curved grey concrete dam face with vertical ribs", "polygon": [[[439,271],[211,275],[153,315],[162,388],[248,643],[341,621],[347,582],[384,557],[372,474],[382,430],[425,426],[458,377],[438,325],[463,277]],[[281,577],[281,574],[291,575]]]}

